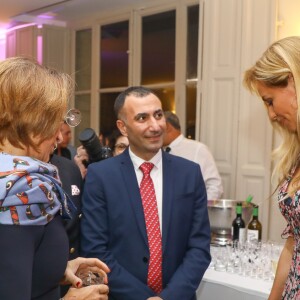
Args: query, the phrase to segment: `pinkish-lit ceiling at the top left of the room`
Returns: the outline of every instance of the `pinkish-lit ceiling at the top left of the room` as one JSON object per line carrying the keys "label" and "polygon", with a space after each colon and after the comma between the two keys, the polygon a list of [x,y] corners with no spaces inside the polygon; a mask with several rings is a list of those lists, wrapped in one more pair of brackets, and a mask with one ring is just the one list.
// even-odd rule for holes
{"label": "pinkish-lit ceiling at the top left of the room", "polygon": [[65,25],[67,22],[153,0],[0,0],[0,28],[23,23]]}

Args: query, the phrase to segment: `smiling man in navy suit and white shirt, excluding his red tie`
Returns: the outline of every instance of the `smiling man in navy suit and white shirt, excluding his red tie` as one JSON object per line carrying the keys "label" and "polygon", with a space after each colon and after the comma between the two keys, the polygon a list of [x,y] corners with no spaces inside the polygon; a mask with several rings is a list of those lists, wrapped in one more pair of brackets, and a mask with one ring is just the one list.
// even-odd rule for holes
{"label": "smiling man in navy suit and white shirt, excluding his red tie", "polygon": [[[103,260],[109,299],[194,300],[210,263],[210,225],[200,167],[161,150],[166,128],[158,97],[131,87],[115,101],[117,126],[128,137],[123,154],[88,167],[81,223],[82,254]],[[147,285],[150,260],[139,189],[151,162],[162,235],[162,291]]]}

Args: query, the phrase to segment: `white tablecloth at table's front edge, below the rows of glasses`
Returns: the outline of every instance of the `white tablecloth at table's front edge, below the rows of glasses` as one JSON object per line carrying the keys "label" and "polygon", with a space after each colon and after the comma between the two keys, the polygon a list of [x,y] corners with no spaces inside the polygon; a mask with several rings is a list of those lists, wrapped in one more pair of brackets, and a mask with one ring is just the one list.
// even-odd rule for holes
{"label": "white tablecloth at table's front edge, below the rows of glasses", "polygon": [[197,290],[197,300],[268,299],[272,282],[208,269]]}

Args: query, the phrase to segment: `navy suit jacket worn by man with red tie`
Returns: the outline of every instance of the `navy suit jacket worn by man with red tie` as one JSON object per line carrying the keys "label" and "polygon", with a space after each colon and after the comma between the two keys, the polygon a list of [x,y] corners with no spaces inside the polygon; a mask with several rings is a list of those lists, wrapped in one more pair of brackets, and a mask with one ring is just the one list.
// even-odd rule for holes
{"label": "navy suit jacket worn by man with red tie", "polygon": [[[196,299],[210,263],[210,225],[200,167],[162,153],[164,300]],[[111,269],[109,299],[144,300],[149,247],[139,186],[128,150],[91,164],[83,194],[82,254]]]}

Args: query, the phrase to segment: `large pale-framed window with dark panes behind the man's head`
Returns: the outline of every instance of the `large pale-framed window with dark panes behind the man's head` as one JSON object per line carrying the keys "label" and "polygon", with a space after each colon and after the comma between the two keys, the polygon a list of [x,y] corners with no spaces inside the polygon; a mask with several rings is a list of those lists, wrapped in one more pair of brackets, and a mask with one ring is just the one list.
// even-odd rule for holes
{"label": "large pale-framed window with dark panes behind the man's head", "polygon": [[[178,114],[183,132],[195,138],[198,3],[174,0],[169,9],[166,6],[163,10],[159,7],[136,9],[127,14],[127,19],[123,15],[123,19],[114,18],[112,22],[107,21],[106,15],[105,23],[98,24],[98,40],[93,43],[90,29],[76,32],[76,106],[84,106],[82,126],[89,123],[96,131],[112,131],[116,121],[113,104],[117,95],[128,86],[144,85],[156,92],[164,110]],[[178,24],[180,30],[176,28]],[[98,58],[93,58],[97,61],[91,61],[92,44],[99,45]],[[184,55],[176,55],[178,51]],[[91,72],[91,68],[98,69]],[[91,79],[91,74],[99,74],[99,77]],[[180,80],[176,78],[178,74]],[[91,80],[98,83],[91,85]],[[97,117],[85,116],[91,109]]]}

